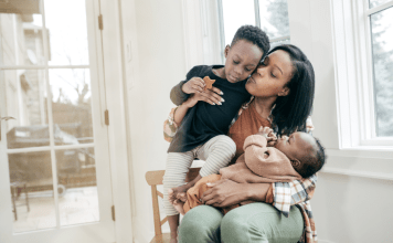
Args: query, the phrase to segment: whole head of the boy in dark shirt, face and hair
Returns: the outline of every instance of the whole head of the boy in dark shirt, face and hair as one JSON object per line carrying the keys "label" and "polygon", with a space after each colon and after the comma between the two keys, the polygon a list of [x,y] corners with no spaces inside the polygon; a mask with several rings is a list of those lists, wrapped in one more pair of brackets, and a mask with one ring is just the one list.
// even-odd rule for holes
{"label": "whole head of the boy in dark shirt, face and hair", "polygon": [[241,27],[226,45],[225,77],[231,83],[246,80],[270,49],[266,33],[257,27]]}

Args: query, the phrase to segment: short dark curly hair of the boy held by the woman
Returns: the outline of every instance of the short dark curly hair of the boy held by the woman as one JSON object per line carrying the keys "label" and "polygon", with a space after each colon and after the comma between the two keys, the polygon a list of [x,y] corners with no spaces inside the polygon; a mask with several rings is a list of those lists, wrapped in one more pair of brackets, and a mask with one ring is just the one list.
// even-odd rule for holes
{"label": "short dark curly hair of the boy held by the woman", "polygon": [[269,38],[265,31],[261,30],[258,27],[254,25],[243,25],[237,29],[235,36],[233,36],[231,46],[233,46],[237,41],[246,40],[257,45],[264,53],[261,60],[264,60],[267,52],[270,49]]}

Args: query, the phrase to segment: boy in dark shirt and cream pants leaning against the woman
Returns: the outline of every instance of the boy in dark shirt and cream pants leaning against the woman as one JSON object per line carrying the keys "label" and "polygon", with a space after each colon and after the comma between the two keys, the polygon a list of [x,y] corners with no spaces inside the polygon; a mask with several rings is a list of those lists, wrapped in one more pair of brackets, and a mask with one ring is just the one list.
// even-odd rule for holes
{"label": "boy in dark shirt and cream pants leaning against the woman", "polygon": [[[231,45],[224,50],[225,66],[194,66],[187,74],[185,81],[172,88],[172,102],[179,105],[174,112],[174,123],[177,123],[177,115],[185,115],[169,146],[162,180],[163,204],[171,231],[171,242],[176,242],[179,212],[170,201],[176,200],[178,193],[185,192],[194,186],[199,179],[217,173],[234,157],[236,146],[225,135],[242,104],[251,98],[245,88],[247,77],[268,50],[269,40],[265,32],[253,25],[241,27]],[[215,81],[212,89],[205,91],[205,83],[202,80],[205,76]],[[216,93],[215,98],[201,98],[199,101],[205,102],[197,103],[189,98],[183,104],[176,101],[176,97],[184,95],[187,98],[191,95],[203,97],[205,93]],[[194,103],[190,104],[190,101]],[[187,172],[195,158],[204,160],[205,163],[195,180],[184,184]]]}

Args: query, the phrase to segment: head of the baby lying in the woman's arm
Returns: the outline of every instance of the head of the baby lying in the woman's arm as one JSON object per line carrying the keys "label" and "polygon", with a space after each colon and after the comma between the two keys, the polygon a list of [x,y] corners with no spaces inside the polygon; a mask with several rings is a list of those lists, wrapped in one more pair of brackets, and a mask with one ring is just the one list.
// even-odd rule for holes
{"label": "head of the baby lying in the woman's arm", "polygon": [[297,131],[289,137],[283,136],[277,139],[275,147],[288,157],[302,178],[315,175],[325,165],[325,148],[309,134]]}

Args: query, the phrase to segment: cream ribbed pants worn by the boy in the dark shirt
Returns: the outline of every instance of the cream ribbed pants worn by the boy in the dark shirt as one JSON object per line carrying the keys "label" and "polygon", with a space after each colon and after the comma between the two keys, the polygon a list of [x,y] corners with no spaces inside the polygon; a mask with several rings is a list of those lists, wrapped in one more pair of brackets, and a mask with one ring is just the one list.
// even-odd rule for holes
{"label": "cream ribbed pants worn by the boy in the dark shirt", "polygon": [[225,135],[219,135],[187,152],[168,152],[166,173],[163,176],[163,207],[167,215],[176,215],[179,212],[168,200],[168,189],[184,183],[187,172],[195,158],[204,160],[201,177],[217,173],[226,167],[235,156],[236,145]]}

